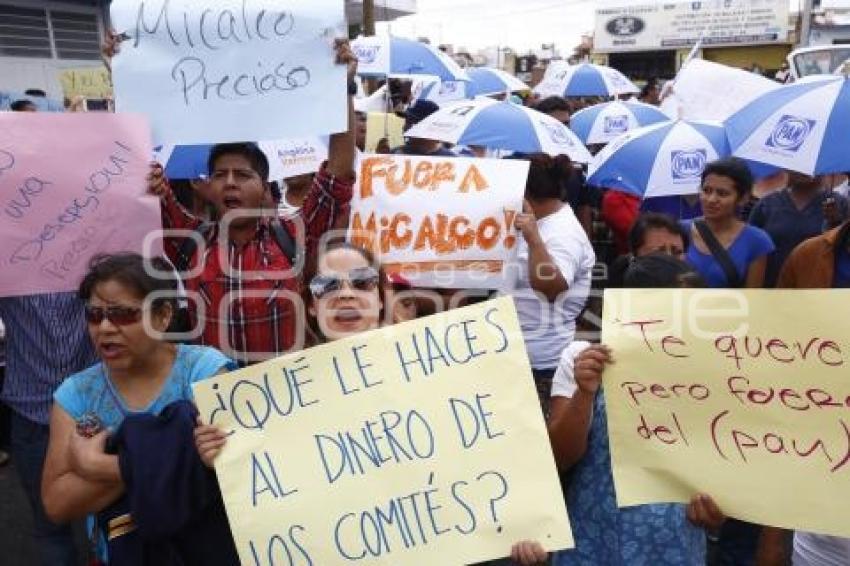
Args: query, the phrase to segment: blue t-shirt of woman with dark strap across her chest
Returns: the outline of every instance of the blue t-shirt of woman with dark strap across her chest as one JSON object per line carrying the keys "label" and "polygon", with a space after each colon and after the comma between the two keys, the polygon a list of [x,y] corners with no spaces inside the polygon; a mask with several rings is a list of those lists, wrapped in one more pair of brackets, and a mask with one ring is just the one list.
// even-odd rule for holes
{"label": "blue t-shirt of woman with dark strap across her chest", "polygon": [[[693,221],[683,222],[682,225],[691,234]],[[747,270],[751,263],[773,252],[773,250],[773,241],[767,235],[767,232],[749,225],[744,226],[732,245],[726,248],[729,257],[732,258],[732,263],[738,270],[741,281],[746,280]],[[691,244],[688,246],[687,260],[699,272],[708,287],[716,289],[729,287],[729,281],[726,279],[726,272],[723,271],[723,267],[714,259],[713,255],[699,251],[694,245],[693,238],[691,238]]]}

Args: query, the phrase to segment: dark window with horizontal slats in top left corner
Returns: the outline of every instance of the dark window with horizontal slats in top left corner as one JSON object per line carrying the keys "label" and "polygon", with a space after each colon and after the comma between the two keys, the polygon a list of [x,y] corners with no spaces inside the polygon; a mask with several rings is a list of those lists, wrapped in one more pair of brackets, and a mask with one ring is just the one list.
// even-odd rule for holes
{"label": "dark window with horizontal slats in top left corner", "polygon": [[0,4],[0,56],[100,58],[96,12]]}

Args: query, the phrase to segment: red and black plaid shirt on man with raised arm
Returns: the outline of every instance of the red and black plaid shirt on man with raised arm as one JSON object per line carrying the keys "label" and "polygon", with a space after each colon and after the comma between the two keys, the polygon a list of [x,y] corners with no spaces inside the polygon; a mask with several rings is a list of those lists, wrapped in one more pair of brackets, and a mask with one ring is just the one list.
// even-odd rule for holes
{"label": "red and black plaid shirt on man with raised arm", "polygon": [[[281,218],[293,239],[304,242],[308,263],[315,258],[321,237],[342,226],[352,187],[352,182],[331,176],[323,167],[298,213],[303,236],[298,234],[299,218]],[[162,202],[162,217],[164,228],[197,230],[202,224],[170,192]],[[307,318],[300,292],[304,270],[284,277],[292,266],[275,241],[268,219],[258,220],[254,238],[241,247],[228,240],[220,249],[218,225],[205,236],[206,246],[198,246],[183,274],[192,326],[203,328],[197,342],[243,363],[303,348]],[[173,262],[183,240],[165,239],[166,254]]]}

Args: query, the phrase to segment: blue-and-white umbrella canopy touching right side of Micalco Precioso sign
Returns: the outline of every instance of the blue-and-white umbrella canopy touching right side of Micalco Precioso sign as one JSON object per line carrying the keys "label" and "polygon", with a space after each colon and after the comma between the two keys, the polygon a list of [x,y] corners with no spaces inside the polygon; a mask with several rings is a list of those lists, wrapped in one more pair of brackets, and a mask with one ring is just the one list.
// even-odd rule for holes
{"label": "blue-and-white umbrella canopy touching right side of Micalco Precioso sign", "polygon": [[434,47],[390,35],[358,37],[351,43],[364,76],[434,75],[443,81],[468,81],[454,59]]}

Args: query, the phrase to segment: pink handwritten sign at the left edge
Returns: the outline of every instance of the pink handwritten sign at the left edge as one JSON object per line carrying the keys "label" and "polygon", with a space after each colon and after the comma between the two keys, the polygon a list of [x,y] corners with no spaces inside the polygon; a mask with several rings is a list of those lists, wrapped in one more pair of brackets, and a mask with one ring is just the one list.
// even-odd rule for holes
{"label": "pink handwritten sign at the left edge", "polygon": [[75,290],[93,255],[141,252],[161,227],[150,148],[138,116],[0,113],[0,296]]}

